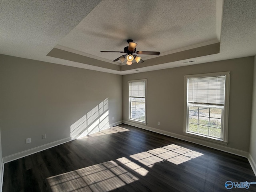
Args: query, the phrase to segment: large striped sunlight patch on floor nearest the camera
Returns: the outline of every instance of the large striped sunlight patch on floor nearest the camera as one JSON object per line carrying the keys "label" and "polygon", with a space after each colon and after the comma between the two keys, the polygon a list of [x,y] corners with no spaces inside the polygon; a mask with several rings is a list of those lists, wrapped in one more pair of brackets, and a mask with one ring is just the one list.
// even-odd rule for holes
{"label": "large striped sunlight patch on floor nearest the camera", "polygon": [[130,184],[138,178],[114,161],[47,178],[52,192],[111,191]]}

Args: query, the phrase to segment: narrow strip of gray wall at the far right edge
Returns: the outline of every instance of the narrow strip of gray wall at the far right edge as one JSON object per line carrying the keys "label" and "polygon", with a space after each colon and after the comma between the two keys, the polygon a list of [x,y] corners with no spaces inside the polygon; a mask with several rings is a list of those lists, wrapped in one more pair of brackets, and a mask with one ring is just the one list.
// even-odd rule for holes
{"label": "narrow strip of gray wall at the far right edge", "polygon": [[250,155],[256,163],[256,56],[254,57],[254,81],[252,95],[252,126],[250,135]]}

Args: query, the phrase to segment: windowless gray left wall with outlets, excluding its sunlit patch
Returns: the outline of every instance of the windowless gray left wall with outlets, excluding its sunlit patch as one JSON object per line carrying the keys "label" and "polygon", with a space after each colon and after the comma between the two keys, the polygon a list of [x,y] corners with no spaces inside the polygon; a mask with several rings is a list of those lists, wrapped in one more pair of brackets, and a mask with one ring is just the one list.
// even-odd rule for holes
{"label": "windowless gray left wall with outlets, excluding its sunlit patch", "polygon": [[109,124],[121,121],[122,76],[0,55],[2,156],[70,137],[70,126],[106,98]]}

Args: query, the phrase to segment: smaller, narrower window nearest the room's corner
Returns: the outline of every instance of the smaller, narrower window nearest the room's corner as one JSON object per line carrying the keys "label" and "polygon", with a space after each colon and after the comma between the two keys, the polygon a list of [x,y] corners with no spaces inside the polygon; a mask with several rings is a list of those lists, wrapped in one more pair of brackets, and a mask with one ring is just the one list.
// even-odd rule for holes
{"label": "smaller, narrower window nearest the room's corner", "polygon": [[129,120],[146,124],[146,86],[147,81],[128,81]]}

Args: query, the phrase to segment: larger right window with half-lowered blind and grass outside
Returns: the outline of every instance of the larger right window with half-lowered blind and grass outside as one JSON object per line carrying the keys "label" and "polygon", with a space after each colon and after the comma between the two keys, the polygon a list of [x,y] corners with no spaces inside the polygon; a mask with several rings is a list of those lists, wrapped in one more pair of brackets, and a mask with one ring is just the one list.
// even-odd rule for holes
{"label": "larger right window with half-lowered blind and grass outside", "polygon": [[230,72],[185,76],[184,133],[228,140]]}

